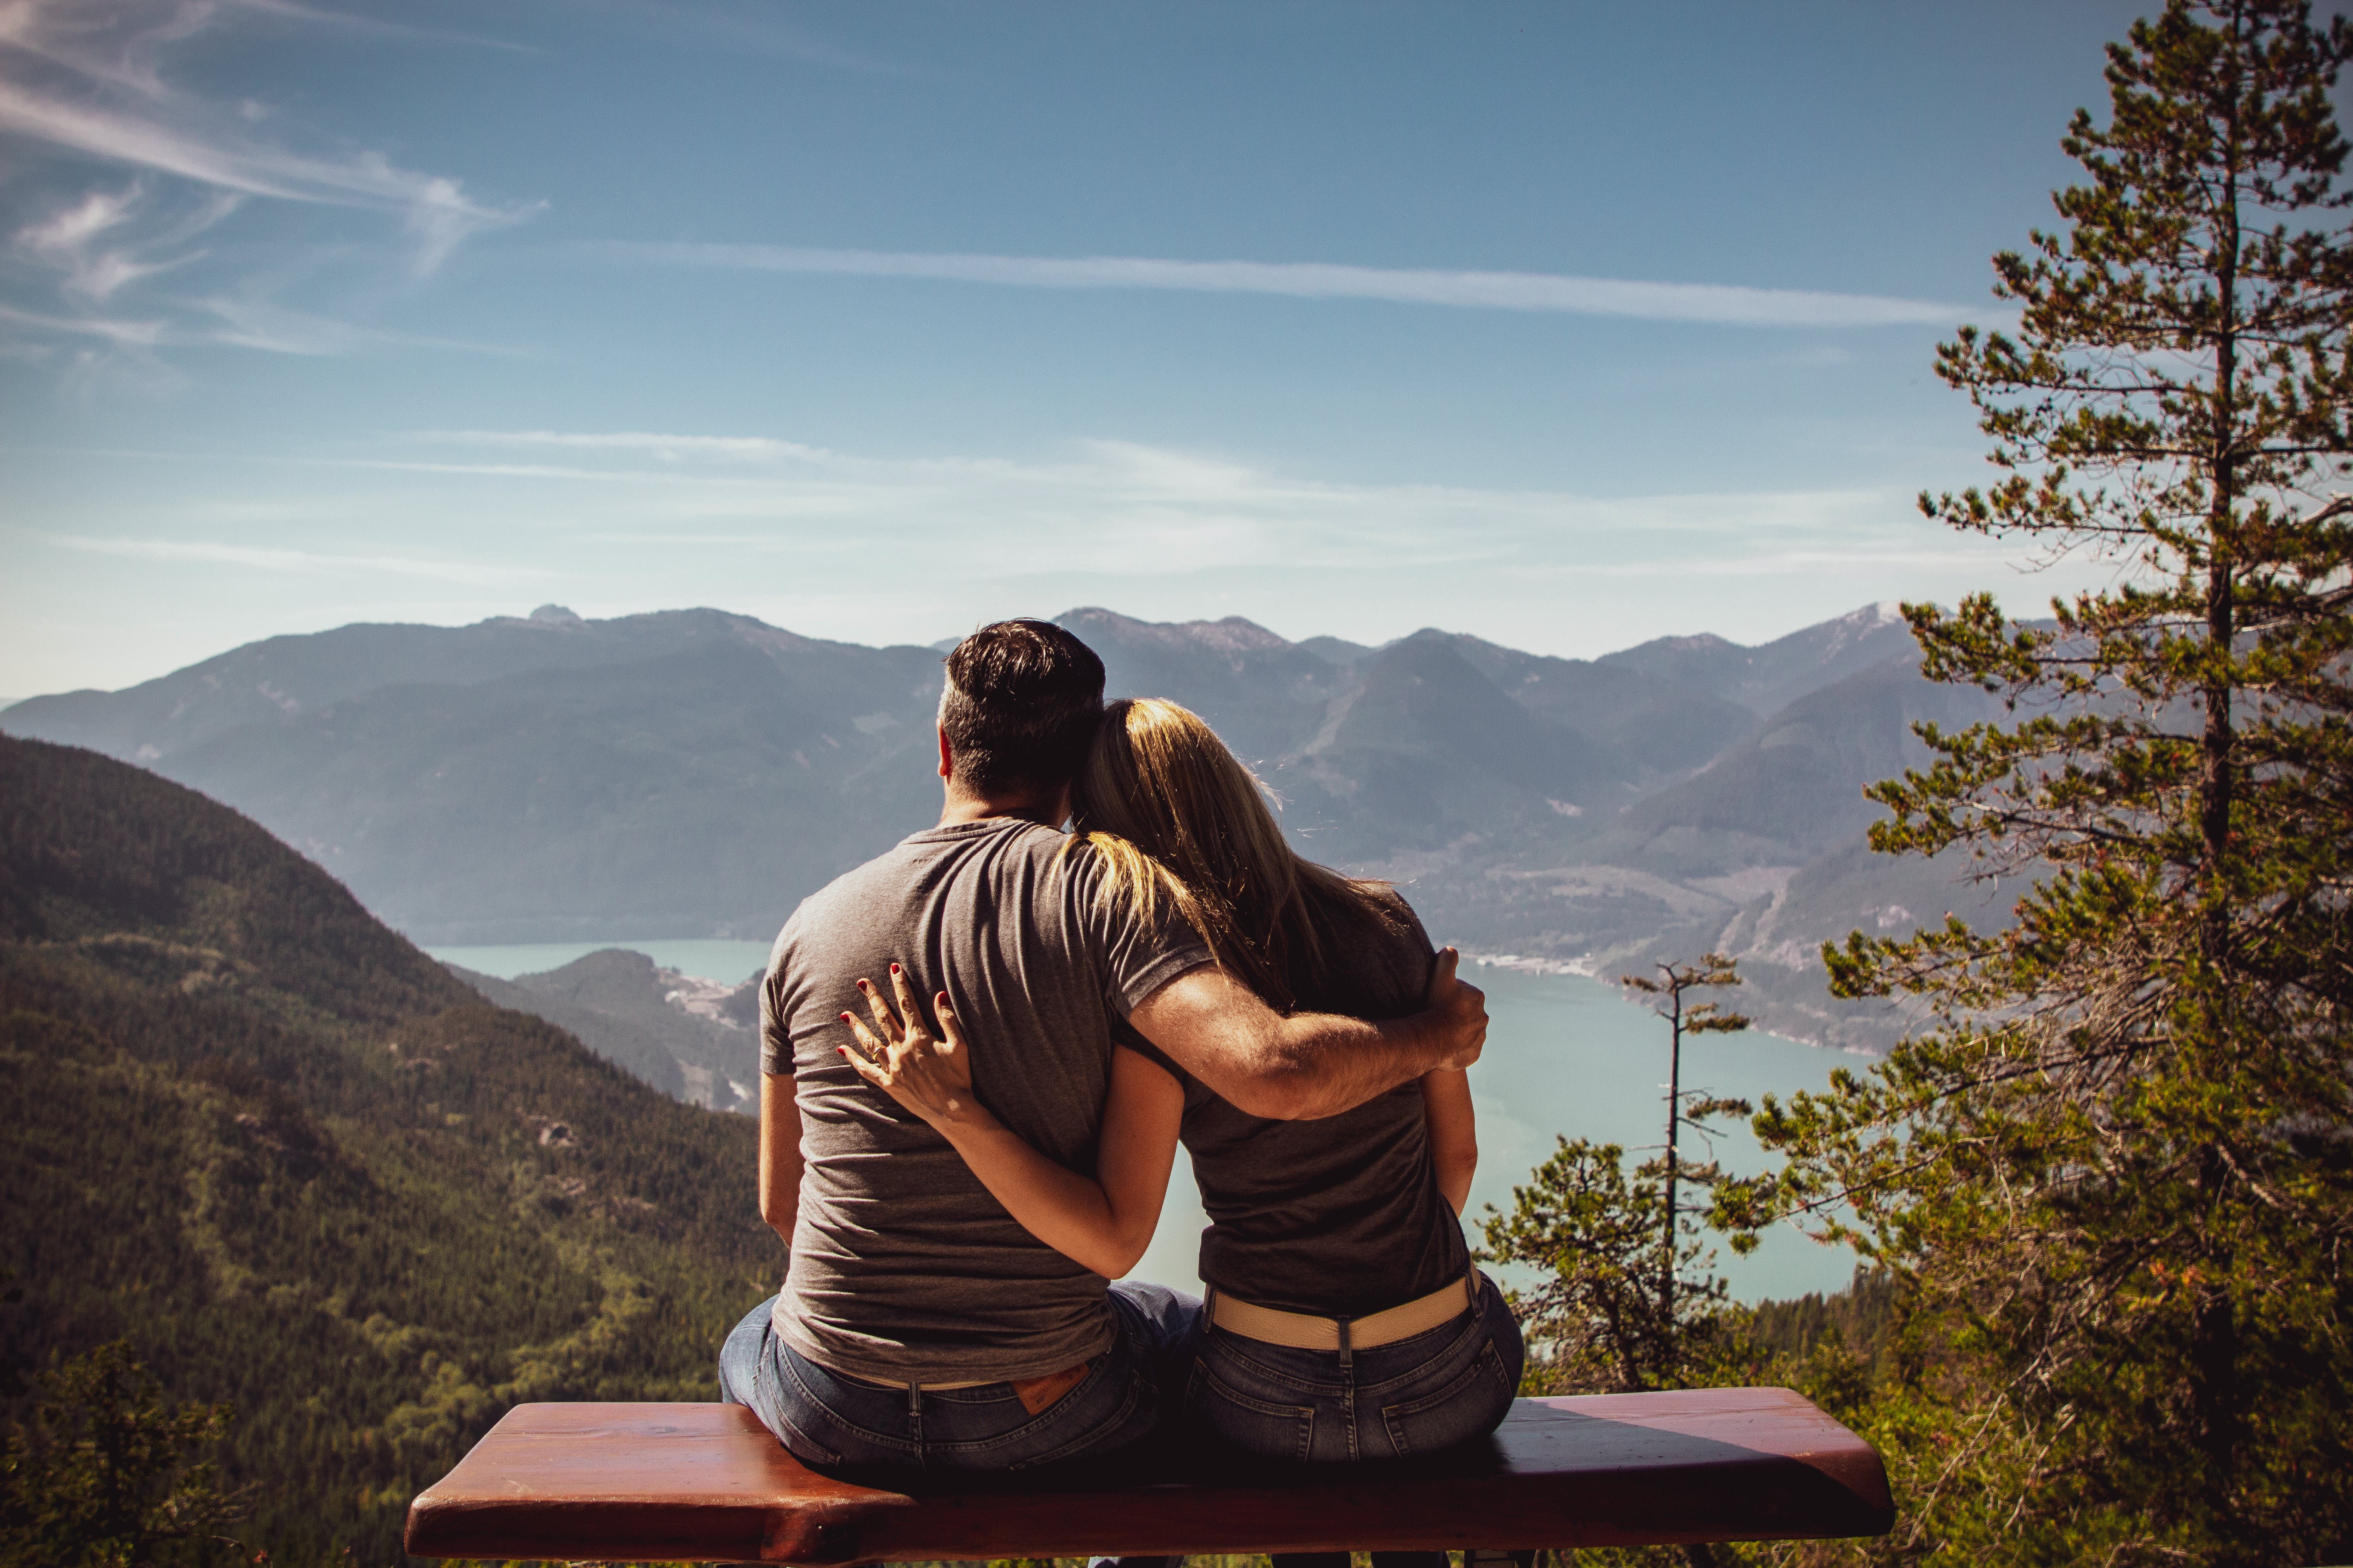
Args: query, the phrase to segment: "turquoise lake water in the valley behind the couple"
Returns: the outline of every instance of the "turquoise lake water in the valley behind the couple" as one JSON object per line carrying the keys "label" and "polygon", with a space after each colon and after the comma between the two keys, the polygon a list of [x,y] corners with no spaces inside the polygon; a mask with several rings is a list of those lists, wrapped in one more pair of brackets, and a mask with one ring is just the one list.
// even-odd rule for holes
{"label": "turquoise lake water in the valley behind the couple", "polygon": [[[736,983],[767,961],[767,943],[642,940],[525,943],[506,947],[428,947],[438,959],[489,976],[513,978],[558,969],[598,947],[633,947],[664,969]],[[1532,976],[1489,964],[1468,966],[1466,978],[1487,992],[1487,1051],[1471,1070],[1478,1103],[1480,1168],[1471,1187],[1468,1218],[1487,1204],[1511,1208],[1511,1190],[1541,1164],[1553,1138],[1593,1138],[1635,1150],[1657,1150],[1666,1135],[1666,1025],[1624,1001],[1614,985],[1581,976]],[[1682,1081],[1720,1095],[1788,1093],[1821,1088],[1838,1065],[1861,1067],[1866,1058],[1821,1051],[1777,1034],[1701,1034],[1685,1044]],[[1687,1157],[1706,1159],[1706,1145],[1685,1135]],[[1758,1171],[1765,1154],[1744,1126],[1715,1135],[1715,1157],[1732,1171]],[[1179,1161],[1184,1154],[1179,1154]],[[744,1173],[746,1192],[751,1173]],[[1195,1248],[1205,1220],[1191,1171],[1169,1182],[1160,1234],[1136,1265],[1136,1279],[1198,1291]],[[1473,1227],[1475,1237],[1475,1227]],[[1748,1258],[1725,1248],[1715,1267],[1741,1300],[1835,1291],[1854,1274],[1845,1248],[1828,1248],[1798,1232],[1772,1232]]]}

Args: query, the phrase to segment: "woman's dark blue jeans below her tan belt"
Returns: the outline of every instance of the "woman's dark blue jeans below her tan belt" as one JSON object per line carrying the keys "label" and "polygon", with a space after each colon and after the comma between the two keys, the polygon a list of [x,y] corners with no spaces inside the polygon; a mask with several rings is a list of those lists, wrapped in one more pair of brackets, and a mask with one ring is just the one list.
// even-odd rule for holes
{"label": "woman's dark blue jeans below her tan belt", "polygon": [[1186,1418],[1261,1460],[1402,1460],[1494,1432],[1525,1356],[1504,1293],[1482,1276],[1478,1307],[1374,1349],[1292,1349],[1209,1328]]}

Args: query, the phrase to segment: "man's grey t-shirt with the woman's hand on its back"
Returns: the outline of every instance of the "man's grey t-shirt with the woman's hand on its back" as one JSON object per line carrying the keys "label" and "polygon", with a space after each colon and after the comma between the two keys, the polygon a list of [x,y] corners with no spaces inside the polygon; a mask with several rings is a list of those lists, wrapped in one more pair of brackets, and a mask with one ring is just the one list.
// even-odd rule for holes
{"label": "man's grey t-shirt with the woman's hand on its back", "polygon": [[776,1331],[809,1361],[882,1382],[1038,1378],[1111,1347],[1101,1274],[1031,1237],[915,1112],[835,1046],[856,983],[904,964],[946,990],[972,1091],[1016,1138],[1094,1173],[1113,1020],[1209,961],[1184,924],[1096,900],[1101,863],[1024,818],[927,827],[812,893],[760,987],[760,1065],[800,1103],[800,1220]]}

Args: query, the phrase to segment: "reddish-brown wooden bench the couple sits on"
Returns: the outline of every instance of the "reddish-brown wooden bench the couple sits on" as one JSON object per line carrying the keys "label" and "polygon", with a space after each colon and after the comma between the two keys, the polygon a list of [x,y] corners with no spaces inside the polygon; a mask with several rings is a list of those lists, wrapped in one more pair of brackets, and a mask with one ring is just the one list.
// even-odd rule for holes
{"label": "reddish-brown wooden bench the couple sits on", "polygon": [[1871,1443],[1788,1389],[1520,1399],[1485,1443],[1344,1469],[885,1490],[739,1406],[515,1406],[409,1505],[414,1556],[864,1561],[1638,1547],[1882,1535]]}

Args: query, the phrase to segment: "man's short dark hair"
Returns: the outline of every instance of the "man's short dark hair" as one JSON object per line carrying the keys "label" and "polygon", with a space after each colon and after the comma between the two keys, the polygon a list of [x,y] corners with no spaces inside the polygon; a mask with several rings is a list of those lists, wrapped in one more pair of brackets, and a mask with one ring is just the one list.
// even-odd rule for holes
{"label": "man's short dark hair", "polygon": [[1104,661],[1052,621],[998,621],[948,654],[939,729],[972,795],[1049,795],[1104,722]]}

